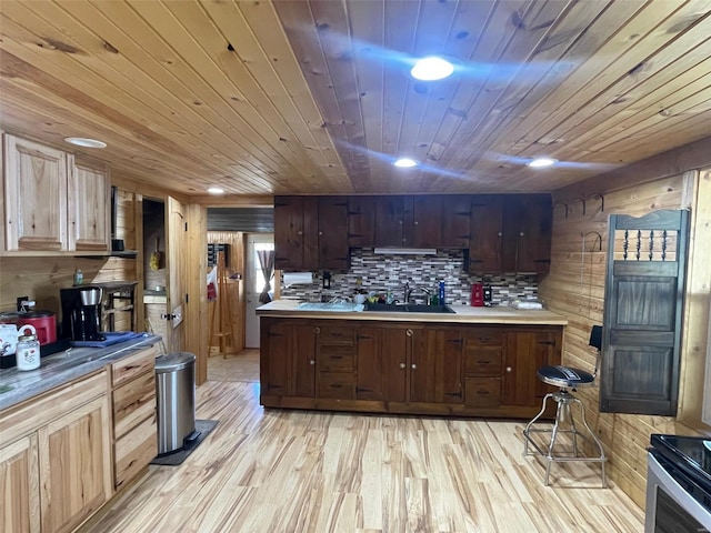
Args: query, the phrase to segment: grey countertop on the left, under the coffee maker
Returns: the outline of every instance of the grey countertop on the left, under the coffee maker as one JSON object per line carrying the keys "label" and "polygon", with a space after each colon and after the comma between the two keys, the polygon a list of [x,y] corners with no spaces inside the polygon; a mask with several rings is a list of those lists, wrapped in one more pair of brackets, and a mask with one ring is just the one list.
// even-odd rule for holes
{"label": "grey countertop on the left, under the coffee maker", "polygon": [[160,341],[160,336],[143,333],[108,348],[72,348],[42,358],[40,368],[20,371],[17,368],[0,370],[0,410],[90,374]]}

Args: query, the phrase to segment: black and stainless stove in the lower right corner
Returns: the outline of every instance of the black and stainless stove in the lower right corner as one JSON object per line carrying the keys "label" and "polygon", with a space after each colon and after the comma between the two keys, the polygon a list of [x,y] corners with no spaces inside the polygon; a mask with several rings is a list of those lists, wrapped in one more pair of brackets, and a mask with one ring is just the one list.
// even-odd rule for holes
{"label": "black and stainless stove in the lower right corner", "polygon": [[644,533],[711,531],[711,438],[653,434]]}

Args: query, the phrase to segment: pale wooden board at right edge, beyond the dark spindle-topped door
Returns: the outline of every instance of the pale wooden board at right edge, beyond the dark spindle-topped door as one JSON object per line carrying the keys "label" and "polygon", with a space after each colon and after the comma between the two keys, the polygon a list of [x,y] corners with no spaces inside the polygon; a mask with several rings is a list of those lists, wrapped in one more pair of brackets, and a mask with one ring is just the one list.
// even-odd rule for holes
{"label": "pale wooden board at right edge, beyond the dark spindle-topped door", "polygon": [[[702,415],[707,365],[709,322],[711,322],[711,169],[692,171],[684,179],[695,187],[691,198],[691,232],[689,235],[688,278],[684,290],[681,383],[679,420],[698,423]],[[711,384],[707,384],[707,396]]]}

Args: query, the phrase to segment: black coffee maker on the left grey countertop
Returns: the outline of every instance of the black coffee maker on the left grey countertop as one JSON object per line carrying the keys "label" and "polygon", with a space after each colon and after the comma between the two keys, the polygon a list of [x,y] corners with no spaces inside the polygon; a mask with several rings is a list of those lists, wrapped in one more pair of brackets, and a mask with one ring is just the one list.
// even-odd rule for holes
{"label": "black coffee maker on the left grey countertop", "polygon": [[72,341],[103,341],[101,333],[100,286],[60,289],[62,304],[62,335]]}

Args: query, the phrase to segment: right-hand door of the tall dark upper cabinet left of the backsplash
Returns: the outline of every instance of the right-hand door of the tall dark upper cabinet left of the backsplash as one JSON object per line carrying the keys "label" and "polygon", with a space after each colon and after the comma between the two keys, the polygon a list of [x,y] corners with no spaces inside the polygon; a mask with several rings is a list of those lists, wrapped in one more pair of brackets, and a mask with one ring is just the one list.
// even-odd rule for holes
{"label": "right-hand door of the tall dark upper cabinet left of the backsplash", "polygon": [[348,270],[348,199],[320,197],[318,268]]}

